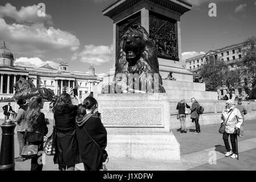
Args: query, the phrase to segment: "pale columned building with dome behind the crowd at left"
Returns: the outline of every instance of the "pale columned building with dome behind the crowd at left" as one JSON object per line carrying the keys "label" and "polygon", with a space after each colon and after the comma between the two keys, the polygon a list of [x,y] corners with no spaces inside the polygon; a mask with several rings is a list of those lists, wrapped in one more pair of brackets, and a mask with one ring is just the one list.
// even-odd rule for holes
{"label": "pale columned building with dome behind the crowd at left", "polygon": [[68,63],[60,62],[58,69],[49,64],[40,68],[23,67],[14,65],[14,56],[2,43],[0,47],[0,100],[13,97],[15,90],[13,84],[19,80],[19,77],[31,80],[36,88],[49,88],[55,95],[69,91],[72,88],[78,89],[80,98],[86,97],[92,90],[93,85],[99,84],[103,78],[95,75],[94,67],[87,72],[70,72]]}

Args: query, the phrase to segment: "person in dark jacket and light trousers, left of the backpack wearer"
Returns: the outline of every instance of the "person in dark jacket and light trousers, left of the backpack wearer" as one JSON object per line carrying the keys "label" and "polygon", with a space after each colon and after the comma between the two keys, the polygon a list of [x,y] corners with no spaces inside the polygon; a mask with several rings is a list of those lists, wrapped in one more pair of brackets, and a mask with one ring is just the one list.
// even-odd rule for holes
{"label": "person in dark jacket and light trousers, left of the backpack wearer", "polygon": [[185,99],[182,99],[180,102],[178,102],[176,109],[178,110],[178,118],[180,119],[181,124],[180,133],[186,133],[186,114],[188,114],[186,108],[190,109],[190,106],[186,104]]}

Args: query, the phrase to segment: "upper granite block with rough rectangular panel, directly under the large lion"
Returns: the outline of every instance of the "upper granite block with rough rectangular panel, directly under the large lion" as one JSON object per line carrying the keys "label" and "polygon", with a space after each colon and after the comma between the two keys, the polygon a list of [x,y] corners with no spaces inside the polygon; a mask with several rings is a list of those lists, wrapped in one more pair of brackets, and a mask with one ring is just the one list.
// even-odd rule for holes
{"label": "upper granite block with rough rectangular panel, directly under the large lion", "polygon": [[170,131],[166,93],[97,94],[97,102],[101,121],[113,131]]}

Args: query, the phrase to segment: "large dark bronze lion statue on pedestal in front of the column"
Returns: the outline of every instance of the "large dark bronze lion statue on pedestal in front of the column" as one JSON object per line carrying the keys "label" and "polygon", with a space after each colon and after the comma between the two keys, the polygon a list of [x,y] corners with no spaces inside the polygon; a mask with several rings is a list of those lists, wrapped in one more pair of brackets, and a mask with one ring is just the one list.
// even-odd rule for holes
{"label": "large dark bronze lion statue on pedestal in front of the column", "polygon": [[155,46],[138,23],[129,27],[120,39],[114,82],[105,85],[101,93],[109,93],[111,87],[115,93],[165,92]]}

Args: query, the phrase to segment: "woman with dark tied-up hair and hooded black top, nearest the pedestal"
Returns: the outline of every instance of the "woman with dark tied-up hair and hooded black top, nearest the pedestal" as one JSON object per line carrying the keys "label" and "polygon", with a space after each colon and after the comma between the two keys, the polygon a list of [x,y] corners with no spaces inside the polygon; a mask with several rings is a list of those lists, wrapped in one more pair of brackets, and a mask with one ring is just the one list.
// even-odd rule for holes
{"label": "woman with dark tied-up hair and hooded black top, nearest the pedestal", "polygon": [[84,104],[79,105],[76,117],[76,135],[85,171],[103,169],[102,151],[107,147],[107,130],[101,123],[99,113],[96,114],[96,110],[97,101],[95,98],[87,97]]}

